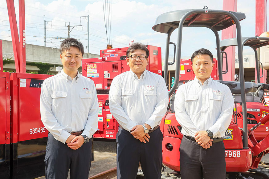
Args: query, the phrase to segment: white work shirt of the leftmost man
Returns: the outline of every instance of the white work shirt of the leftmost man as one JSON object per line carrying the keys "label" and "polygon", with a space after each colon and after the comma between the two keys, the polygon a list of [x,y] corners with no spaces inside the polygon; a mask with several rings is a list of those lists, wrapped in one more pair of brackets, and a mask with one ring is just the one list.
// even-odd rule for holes
{"label": "white work shirt of the leftmost man", "polygon": [[98,99],[94,82],[82,75],[72,80],[63,70],[45,79],[40,94],[41,120],[53,137],[65,143],[69,132],[83,130],[91,138],[98,126]]}

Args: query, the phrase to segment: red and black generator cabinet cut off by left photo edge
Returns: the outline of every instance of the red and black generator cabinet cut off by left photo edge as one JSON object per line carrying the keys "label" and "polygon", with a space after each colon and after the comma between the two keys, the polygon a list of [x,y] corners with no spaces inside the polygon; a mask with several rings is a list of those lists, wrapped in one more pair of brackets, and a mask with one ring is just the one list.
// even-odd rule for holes
{"label": "red and black generator cabinet cut off by left photo edge", "polygon": [[[2,49],[2,48],[1,48]],[[10,81],[0,72],[0,178],[10,177]]]}

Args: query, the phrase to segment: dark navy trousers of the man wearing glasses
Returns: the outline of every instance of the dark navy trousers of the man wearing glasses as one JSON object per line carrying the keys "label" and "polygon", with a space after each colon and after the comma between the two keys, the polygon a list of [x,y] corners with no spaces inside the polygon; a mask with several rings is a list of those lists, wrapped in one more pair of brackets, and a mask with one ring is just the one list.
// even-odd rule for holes
{"label": "dark navy trousers of the man wearing glasses", "polygon": [[119,127],[117,143],[117,179],[135,179],[139,162],[145,179],[160,179],[162,166],[162,133],[149,133],[149,142],[140,142],[130,132]]}

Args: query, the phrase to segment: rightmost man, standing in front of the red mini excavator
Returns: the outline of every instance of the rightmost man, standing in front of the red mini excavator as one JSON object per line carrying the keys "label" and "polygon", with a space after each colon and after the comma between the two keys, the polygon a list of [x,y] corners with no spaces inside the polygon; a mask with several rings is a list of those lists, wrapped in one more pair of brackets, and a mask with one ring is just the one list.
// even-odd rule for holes
{"label": "rightmost man, standing in front of the red mini excavator", "polygon": [[196,76],[176,92],[175,114],[184,135],[179,149],[182,179],[226,178],[222,137],[231,122],[234,99],[228,86],[211,79],[212,61],[209,50],[195,51],[191,66]]}

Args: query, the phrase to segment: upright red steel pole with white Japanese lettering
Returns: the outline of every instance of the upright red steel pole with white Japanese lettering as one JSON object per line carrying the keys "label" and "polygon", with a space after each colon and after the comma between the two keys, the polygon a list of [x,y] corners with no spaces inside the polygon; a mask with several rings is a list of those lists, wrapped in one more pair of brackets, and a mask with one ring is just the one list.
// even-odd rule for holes
{"label": "upright red steel pole with white Japanese lettering", "polygon": [[20,73],[26,73],[25,57],[25,6],[24,0],[19,0],[19,23],[20,23]]}

